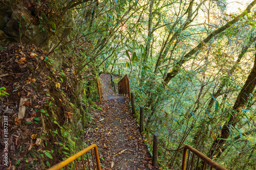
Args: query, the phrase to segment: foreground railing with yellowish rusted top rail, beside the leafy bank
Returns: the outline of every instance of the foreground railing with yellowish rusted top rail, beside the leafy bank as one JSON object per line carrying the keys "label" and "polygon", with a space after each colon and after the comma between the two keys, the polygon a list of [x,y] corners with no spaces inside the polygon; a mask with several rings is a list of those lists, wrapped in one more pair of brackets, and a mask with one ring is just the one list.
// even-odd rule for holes
{"label": "foreground railing with yellowish rusted top rail, beside the leafy bank", "polygon": [[[93,154],[93,149],[94,149],[94,154]],[[91,151],[91,157],[92,157],[92,164],[90,163],[90,159],[89,159],[89,154],[88,152]],[[86,154],[86,158],[83,159],[82,155]],[[47,170],[58,170],[58,169],[61,169],[62,167],[66,167],[66,169],[68,170],[69,167],[68,167],[68,164],[70,164],[71,162],[74,161],[75,163],[75,168],[76,170],[78,169],[83,169],[83,170],[86,170],[86,166],[88,166],[89,169],[91,169],[91,166],[93,169],[96,169],[96,166],[95,166],[95,161],[94,161],[94,155],[95,155],[95,160],[96,160],[96,166],[97,166],[97,169],[100,170],[100,162],[99,162],[99,154],[98,154],[98,148],[96,146],[96,144],[92,144],[90,145],[89,147],[87,147],[86,149],[83,149],[82,151],[76,153],[75,155],[57,163],[56,165],[50,167],[49,169]],[[78,157],[81,157],[81,161],[82,162],[77,162],[76,159]],[[84,162],[88,162],[88,164],[86,165]],[[81,168],[78,168],[78,164],[79,163],[82,163]]]}

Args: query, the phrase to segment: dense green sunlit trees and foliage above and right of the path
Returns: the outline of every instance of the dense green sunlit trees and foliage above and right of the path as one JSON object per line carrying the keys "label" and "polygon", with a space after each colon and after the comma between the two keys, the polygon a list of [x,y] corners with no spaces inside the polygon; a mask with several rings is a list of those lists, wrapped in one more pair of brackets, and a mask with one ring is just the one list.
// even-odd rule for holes
{"label": "dense green sunlit trees and foliage above and right of the path", "polygon": [[10,41],[44,47],[58,70],[64,54],[86,89],[100,72],[129,75],[146,136],[159,133],[162,169],[180,167],[181,152],[169,150],[184,144],[227,168],[255,169],[256,0],[31,2],[26,21],[48,39],[20,25],[11,37],[8,22]]}

